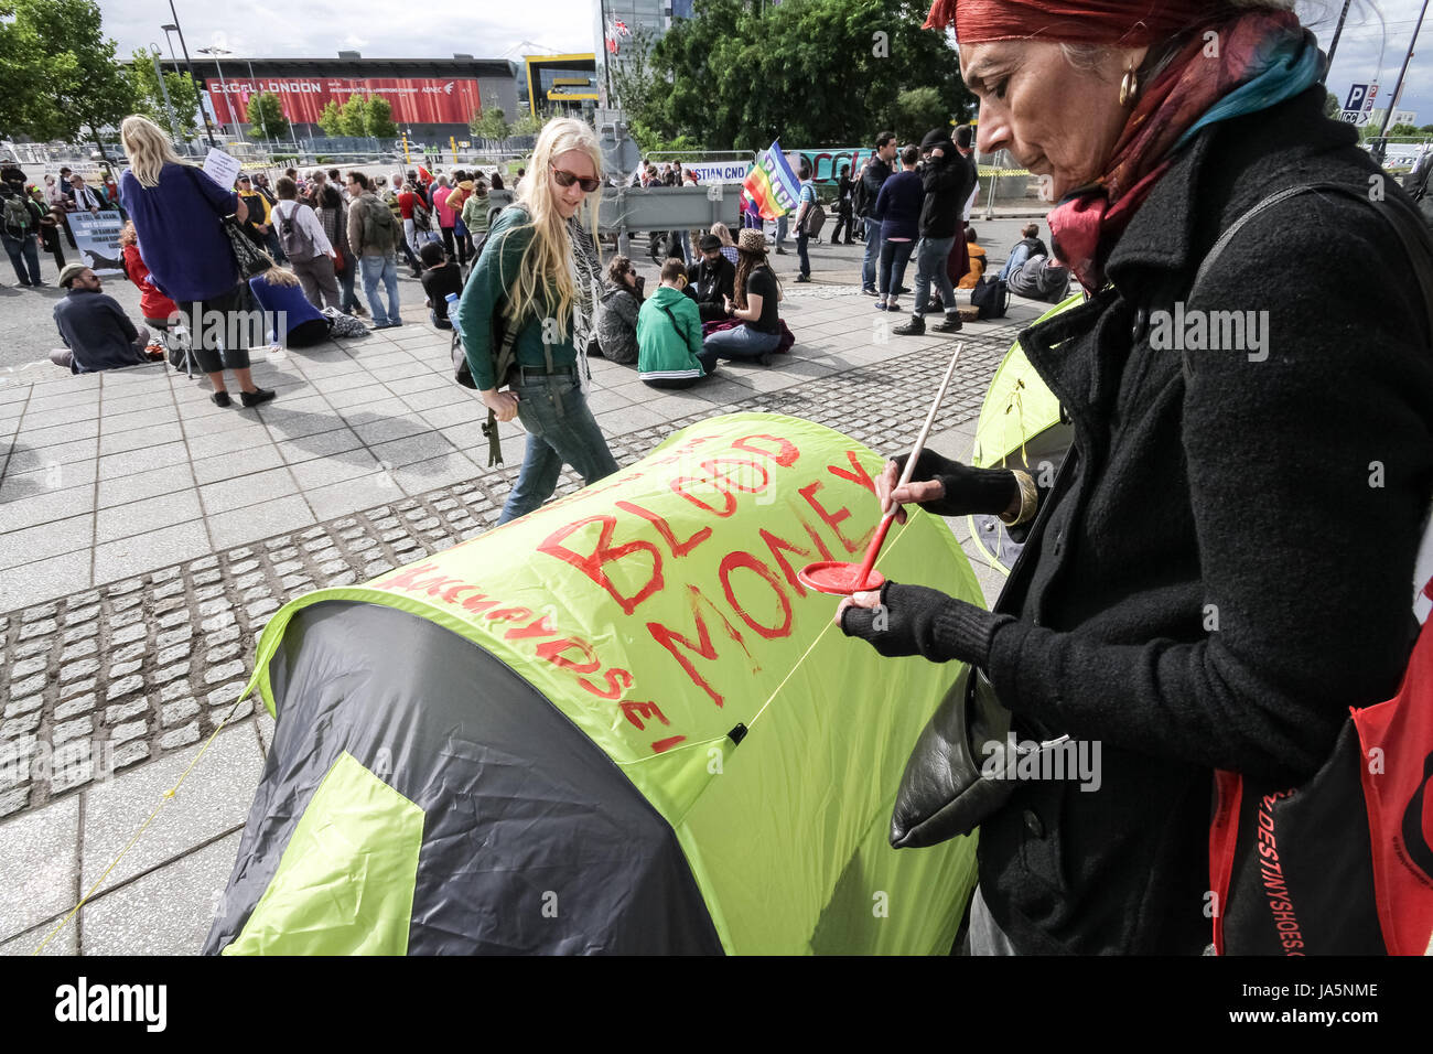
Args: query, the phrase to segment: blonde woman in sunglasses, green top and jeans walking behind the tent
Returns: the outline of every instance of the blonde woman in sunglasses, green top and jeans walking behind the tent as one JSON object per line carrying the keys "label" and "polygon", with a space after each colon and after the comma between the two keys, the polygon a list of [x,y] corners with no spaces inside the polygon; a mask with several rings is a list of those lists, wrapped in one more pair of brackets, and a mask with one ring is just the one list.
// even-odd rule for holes
{"label": "blonde woman in sunglasses, green top and jeans walking behind the tent", "polygon": [[[589,485],[618,470],[585,391],[602,295],[590,234],[598,199],[589,204],[590,227],[579,212],[600,185],[602,149],[592,128],[570,118],[549,120],[533,148],[532,175],[493,224],[459,301],[463,351],[483,404],[497,420],[517,417],[527,429],[527,453],[499,526],[547,500],[563,465]],[[516,333],[516,361],[506,377],[493,376],[494,321]]]}

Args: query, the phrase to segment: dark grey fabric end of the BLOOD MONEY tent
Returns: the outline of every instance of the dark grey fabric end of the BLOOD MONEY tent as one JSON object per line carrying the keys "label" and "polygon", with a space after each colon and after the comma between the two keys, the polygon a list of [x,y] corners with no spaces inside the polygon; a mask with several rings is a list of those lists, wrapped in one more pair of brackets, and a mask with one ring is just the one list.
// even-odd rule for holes
{"label": "dark grey fabric end of the BLOOD MONEY tent", "polygon": [[527,681],[393,608],[299,611],[278,724],[203,951],[242,932],[347,751],[424,812],[410,954],[719,954],[671,826]]}

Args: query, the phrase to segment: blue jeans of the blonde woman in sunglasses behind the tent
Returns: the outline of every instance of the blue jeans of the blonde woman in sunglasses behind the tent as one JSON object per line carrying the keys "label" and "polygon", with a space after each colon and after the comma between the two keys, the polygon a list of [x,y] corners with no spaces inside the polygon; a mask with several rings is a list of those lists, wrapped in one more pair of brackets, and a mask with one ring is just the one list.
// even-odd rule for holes
{"label": "blue jeans of the blonde woman in sunglasses behind the tent", "polygon": [[527,429],[527,455],[503,515],[497,518],[499,526],[526,516],[552,498],[565,463],[576,469],[588,486],[618,470],[575,373],[527,374],[526,379],[519,374],[512,389],[517,394],[517,419]]}

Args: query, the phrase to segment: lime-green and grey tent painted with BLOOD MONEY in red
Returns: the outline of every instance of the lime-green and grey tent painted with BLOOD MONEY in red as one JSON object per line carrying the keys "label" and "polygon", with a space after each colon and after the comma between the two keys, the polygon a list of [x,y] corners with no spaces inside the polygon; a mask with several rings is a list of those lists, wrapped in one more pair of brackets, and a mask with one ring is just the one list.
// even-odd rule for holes
{"label": "lime-green and grey tent painted with BLOOD MONEY in red", "polygon": [[[797,571],[881,459],[715,417],[543,509],[274,615],[274,743],[205,949],[944,954],[974,840],[894,850],[957,664],[887,660]],[[943,521],[880,568],[972,602]]]}

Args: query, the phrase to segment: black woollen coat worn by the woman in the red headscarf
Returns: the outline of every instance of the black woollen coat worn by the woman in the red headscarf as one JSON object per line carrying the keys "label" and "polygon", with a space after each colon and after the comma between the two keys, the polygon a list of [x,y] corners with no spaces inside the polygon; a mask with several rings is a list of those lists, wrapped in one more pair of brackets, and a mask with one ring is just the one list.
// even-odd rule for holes
{"label": "black woollen coat worn by the woman in the red headscarf", "polygon": [[[1297,784],[1413,642],[1433,493],[1433,334],[1386,221],[1277,189],[1370,179],[1310,87],[1201,132],[1086,304],[1020,343],[1075,442],[996,605],[954,601],[944,652],[987,671],[1022,739],[1098,740],[1098,790],[1022,783],[980,829],[980,888],[1020,952],[1198,954],[1211,770]],[[1358,261],[1348,267],[1347,261]],[[1258,341],[1152,346],[1159,311],[1240,311]],[[1250,330],[1254,333],[1254,330]]]}

